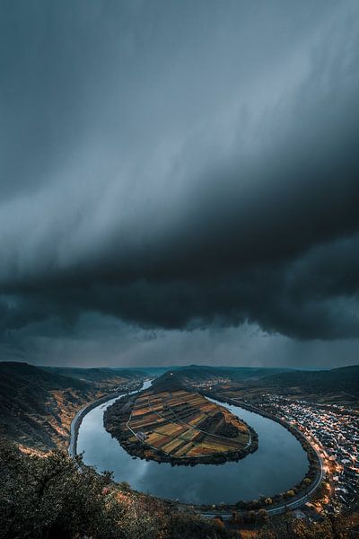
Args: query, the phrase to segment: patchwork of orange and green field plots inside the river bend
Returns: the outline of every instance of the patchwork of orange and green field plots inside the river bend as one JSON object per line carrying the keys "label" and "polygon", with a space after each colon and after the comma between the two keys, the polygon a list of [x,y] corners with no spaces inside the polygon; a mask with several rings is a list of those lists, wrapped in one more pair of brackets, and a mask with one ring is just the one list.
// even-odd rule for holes
{"label": "patchwork of orange and green field plots inside the river bend", "polygon": [[[133,437],[174,457],[197,457],[239,451],[250,443],[240,420],[198,393],[175,391],[141,394],[127,427]],[[223,435],[228,432],[230,436]]]}

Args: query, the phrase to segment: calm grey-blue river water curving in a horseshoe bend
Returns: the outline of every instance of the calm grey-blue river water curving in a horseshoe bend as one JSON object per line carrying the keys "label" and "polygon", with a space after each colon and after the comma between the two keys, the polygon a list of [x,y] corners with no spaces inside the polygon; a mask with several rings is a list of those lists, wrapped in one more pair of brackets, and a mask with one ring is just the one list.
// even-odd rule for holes
{"label": "calm grey-blue river water curving in a horseshoe bend", "polygon": [[[151,383],[146,382],[144,389]],[[301,444],[276,421],[239,406],[225,404],[258,433],[258,450],[238,463],[174,466],[133,459],[103,427],[103,412],[117,399],[101,404],[83,418],[77,451],[99,472],[111,470],[118,482],[136,490],[188,503],[234,503],[288,490],[308,469]],[[219,402],[220,403],[220,402]],[[221,402],[224,406],[224,404]]]}

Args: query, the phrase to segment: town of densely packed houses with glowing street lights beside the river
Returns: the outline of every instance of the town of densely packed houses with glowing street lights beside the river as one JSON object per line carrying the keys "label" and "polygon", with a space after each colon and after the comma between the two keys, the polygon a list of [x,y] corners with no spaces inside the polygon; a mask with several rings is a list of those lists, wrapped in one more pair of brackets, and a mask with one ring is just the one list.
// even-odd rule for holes
{"label": "town of densely packed houses with glowing street lights beside the river", "polygon": [[273,394],[261,408],[292,423],[320,453],[330,482],[332,507],[348,508],[359,499],[359,415],[337,404],[317,404]]}

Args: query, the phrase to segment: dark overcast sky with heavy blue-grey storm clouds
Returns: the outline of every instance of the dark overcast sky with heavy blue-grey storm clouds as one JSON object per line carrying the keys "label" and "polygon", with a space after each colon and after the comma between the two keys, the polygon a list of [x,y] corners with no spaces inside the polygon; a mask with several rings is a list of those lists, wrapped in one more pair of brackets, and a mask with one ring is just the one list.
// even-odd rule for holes
{"label": "dark overcast sky with heavy blue-grey storm clouds", "polygon": [[340,366],[359,3],[0,3],[0,358]]}

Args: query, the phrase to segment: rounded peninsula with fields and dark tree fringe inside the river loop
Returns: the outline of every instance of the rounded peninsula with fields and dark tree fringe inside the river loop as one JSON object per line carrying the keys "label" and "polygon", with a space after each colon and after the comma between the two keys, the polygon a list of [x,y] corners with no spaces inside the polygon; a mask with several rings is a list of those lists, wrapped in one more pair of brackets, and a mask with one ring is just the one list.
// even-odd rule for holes
{"label": "rounded peninsula with fields and dark tree fringe inside the river loop", "polygon": [[171,464],[220,464],[254,452],[258,437],[231,412],[184,389],[127,395],[104,423],[130,455]]}

